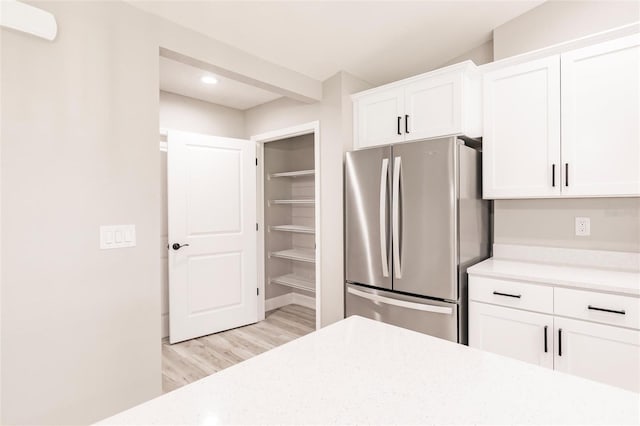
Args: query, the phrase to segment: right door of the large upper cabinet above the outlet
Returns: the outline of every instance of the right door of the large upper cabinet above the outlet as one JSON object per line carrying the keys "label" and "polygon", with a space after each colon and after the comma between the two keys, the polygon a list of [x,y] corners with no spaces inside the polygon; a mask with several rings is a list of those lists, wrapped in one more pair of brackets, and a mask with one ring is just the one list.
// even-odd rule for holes
{"label": "right door of the large upper cabinet above the outlet", "polygon": [[562,55],[563,194],[640,195],[639,76],[640,35]]}

